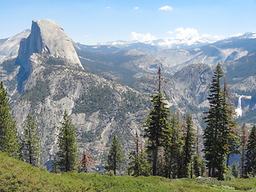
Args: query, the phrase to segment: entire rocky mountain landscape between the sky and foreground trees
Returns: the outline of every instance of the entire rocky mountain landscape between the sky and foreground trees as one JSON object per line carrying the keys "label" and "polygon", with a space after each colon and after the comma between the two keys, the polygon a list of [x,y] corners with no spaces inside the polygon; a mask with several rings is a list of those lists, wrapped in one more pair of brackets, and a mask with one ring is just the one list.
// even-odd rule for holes
{"label": "entire rocky mountain landscape between the sky and foreground trees", "polygon": [[144,43],[85,46],[73,42],[57,22],[43,19],[33,21],[31,30],[0,41],[0,76],[18,132],[31,114],[42,133],[41,164],[50,169],[57,151],[57,126],[67,110],[77,130],[78,148],[90,149],[94,169],[101,170],[114,135],[127,152],[136,131],[142,132],[158,66],[167,81],[170,110],[192,114],[201,130],[214,64],[225,62],[222,67],[235,104],[244,95],[238,122],[254,124],[254,37],[245,34],[190,50],[161,50]]}

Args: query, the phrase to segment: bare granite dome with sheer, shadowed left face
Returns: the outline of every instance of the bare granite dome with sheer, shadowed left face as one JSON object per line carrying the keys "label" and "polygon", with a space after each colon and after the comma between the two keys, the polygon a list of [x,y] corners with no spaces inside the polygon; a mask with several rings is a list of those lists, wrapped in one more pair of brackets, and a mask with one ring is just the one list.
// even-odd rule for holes
{"label": "bare granite dome with sheer, shadowed left face", "polygon": [[70,66],[82,68],[72,40],[66,35],[58,22],[50,19],[33,20],[31,33],[21,41],[18,62],[26,71],[31,71],[32,54],[48,54],[54,58],[64,58]]}

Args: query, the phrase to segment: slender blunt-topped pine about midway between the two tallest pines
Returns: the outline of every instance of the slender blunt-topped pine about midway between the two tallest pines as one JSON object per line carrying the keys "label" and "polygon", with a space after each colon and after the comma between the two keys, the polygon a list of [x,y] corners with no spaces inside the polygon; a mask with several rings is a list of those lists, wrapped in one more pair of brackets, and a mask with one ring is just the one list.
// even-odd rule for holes
{"label": "slender blunt-topped pine about midway between the two tallest pines", "polygon": [[188,177],[190,172],[189,168],[192,163],[192,157],[195,151],[195,140],[194,140],[194,128],[193,121],[190,114],[186,115],[186,134],[185,134],[185,144],[184,149],[184,171],[183,177]]}

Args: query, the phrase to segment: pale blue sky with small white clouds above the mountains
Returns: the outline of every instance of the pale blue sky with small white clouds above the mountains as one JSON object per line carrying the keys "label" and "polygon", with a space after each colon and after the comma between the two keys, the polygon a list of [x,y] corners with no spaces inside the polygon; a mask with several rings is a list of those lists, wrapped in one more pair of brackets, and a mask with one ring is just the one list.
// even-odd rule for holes
{"label": "pale blue sky with small white clouds above the mountains", "polygon": [[256,32],[256,0],[0,0],[0,5],[0,39],[44,18],[86,45],[188,37],[216,41]]}

